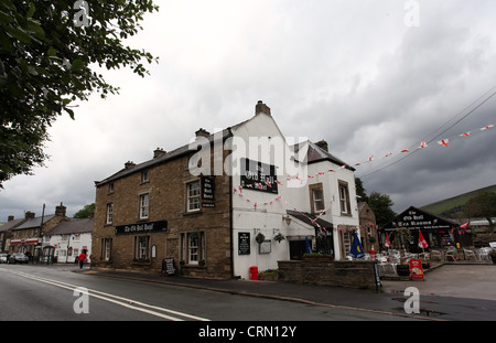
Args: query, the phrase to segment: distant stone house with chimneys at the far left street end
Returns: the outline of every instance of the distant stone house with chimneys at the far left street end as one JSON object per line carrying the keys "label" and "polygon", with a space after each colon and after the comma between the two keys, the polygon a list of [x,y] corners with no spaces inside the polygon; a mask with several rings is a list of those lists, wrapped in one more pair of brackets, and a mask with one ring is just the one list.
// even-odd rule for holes
{"label": "distant stone house with chimneys at the far left street end", "polygon": [[26,253],[33,256],[41,246],[43,236],[64,221],[68,221],[66,207],[61,203],[55,207],[55,214],[35,216],[33,212],[25,213],[25,221],[11,228],[9,253]]}

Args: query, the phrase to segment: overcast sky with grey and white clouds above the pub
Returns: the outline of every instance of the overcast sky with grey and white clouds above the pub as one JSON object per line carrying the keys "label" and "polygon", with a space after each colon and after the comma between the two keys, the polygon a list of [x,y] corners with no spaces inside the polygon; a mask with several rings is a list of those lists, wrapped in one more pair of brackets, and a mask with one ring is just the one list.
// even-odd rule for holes
{"label": "overcast sky with grey and white clouds above the pub", "polygon": [[496,128],[479,130],[496,124],[493,0],[157,3],[129,44],[160,63],[145,78],[105,72],[120,94],[95,95],[76,120],[53,125],[51,160],[4,183],[0,221],[41,215],[44,203],[51,214],[61,202],[72,216],[95,201],[94,181],[158,147],[186,144],[201,127],[246,120],[257,100],[288,137],[325,139],[349,164],[374,156],[356,175],[368,193],[389,194],[397,212],[496,183]]}

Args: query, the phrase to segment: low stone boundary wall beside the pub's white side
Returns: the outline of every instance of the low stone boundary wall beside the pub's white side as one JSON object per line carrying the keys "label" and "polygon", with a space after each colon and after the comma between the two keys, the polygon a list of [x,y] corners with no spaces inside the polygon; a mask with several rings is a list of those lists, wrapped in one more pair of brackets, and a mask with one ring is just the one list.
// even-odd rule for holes
{"label": "low stone boundary wall beside the pub's white side", "polygon": [[377,289],[374,265],[377,261],[284,260],[279,264],[279,281]]}

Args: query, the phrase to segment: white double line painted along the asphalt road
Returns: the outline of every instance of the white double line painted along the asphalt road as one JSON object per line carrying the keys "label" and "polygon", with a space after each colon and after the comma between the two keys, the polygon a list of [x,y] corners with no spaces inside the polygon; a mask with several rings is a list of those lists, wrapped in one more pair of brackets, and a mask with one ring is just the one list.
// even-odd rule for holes
{"label": "white double line painted along the asphalt road", "polygon": [[[35,280],[35,281],[44,282],[44,283],[47,283],[47,285],[56,286],[56,287],[68,289],[68,290],[73,290],[73,291],[76,288],[80,287],[80,286],[76,286],[76,285],[64,282],[64,281],[58,281],[58,280],[53,280],[53,279],[47,279],[47,278],[33,276],[31,274],[26,274],[26,272],[22,272],[22,271],[7,270],[7,269],[2,269],[2,268],[0,270],[8,271],[8,272],[14,274],[17,276],[26,278],[26,279],[32,279],[32,280]],[[151,314],[151,315],[155,315],[155,317],[160,317],[160,318],[163,318],[163,319],[166,319],[166,320],[171,320],[171,321],[183,321],[183,319],[177,318],[177,317],[172,317],[172,315],[169,315],[169,314],[179,315],[179,317],[187,318],[187,319],[191,319],[191,320],[197,320],[197,321],[209,321],[209,319],[206,319],[206,318],[202,318],[202,317],[197,317],[197,315],[193,315],[193,314],[187,314],[187,313],[183,313],[183,312],[179,312],[179,311],[174,311],[174,310],[170,310],[170,309],[165,309],[165,308],[148,304],[148,303],[144,303],[144,302],[141,302],[141,301],[136,301],[136,300],[132,300],[132,299],[128,299],[128,298],[123,298],[123,297],[119,297],[119,296],[101,292],[101,291],[94,290],[94,289],[88,289],[88,294],[90,297],[94,297],[94,298],[97,298],[97,299],[101,299],[101,300],[105,300],[105,301],[108,301],[108,302],[112,302],[112,303],[119,304],[119,306],[128,308],[128,309],[137,310],[137,311],[140,311],[140,312],[144,312],[144,313],[148,313],[148,314]],[[161,313],[161,312],[158,312],[158,311],[165,312],[165,313],[169,313],[169,314],[164,314],[164,313]]]}

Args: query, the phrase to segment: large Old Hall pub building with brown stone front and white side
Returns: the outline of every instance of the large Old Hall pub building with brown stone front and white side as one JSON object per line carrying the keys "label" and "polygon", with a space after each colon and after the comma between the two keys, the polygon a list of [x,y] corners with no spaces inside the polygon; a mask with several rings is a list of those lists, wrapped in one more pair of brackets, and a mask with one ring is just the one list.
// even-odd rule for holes
{"label": "large Old Hall pub building with brown stone front and white side", "polygon": [[249,120],[95,182],[93,266],[248,278],[312,250],[343,259],[359,231],[354,169],[290,141],[259,101]]}

